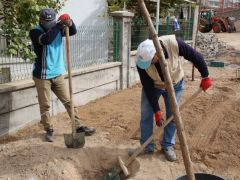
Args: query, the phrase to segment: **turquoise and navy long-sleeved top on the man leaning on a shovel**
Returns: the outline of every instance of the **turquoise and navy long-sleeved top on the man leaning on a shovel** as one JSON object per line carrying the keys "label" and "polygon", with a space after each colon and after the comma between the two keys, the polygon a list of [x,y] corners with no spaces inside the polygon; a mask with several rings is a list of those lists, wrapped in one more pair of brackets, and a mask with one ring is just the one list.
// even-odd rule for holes
{"label": "turquoise and navy long-sleeved top on the man leaning on a shovel", "polygon": [[[69,28],[70,35],[76,34],[76,27]],[[65,72],[65,60],[62,38],[65,35],[64,28],[57,24],[46,31],[38,25],[32,29],[29,36],[32,40],[36,54],[33,76],[39,79],[52,79]]]}

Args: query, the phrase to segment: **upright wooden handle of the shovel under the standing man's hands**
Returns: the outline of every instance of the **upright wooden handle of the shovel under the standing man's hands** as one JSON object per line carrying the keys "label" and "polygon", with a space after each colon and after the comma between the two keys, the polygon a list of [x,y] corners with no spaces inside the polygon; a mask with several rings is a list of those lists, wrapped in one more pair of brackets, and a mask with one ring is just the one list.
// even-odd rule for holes
{"label": "upright wooden handle of the shovel under the standing man's hands", "polygon": [[71,110],[71,121],[72,121],[72,134],[73,137],[76,134],[76,124],[75,124],[75,115],[73,107],[73,88],[72,88],[72,63],[70,59],[70,37],[69,37],[69,27],[65,27],[66,33],[66,51],[67,51],[67,67],[68,67],[68,83],[69,83],[69,94],[70,94],[70,110]]}

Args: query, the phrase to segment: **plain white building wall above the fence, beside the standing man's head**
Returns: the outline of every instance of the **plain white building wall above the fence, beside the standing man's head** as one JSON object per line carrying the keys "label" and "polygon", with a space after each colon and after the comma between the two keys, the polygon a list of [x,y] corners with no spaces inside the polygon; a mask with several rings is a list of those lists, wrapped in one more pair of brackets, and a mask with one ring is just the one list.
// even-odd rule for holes
{"label": "plain white building wall above the fence, beside the standing man's head", "polygon": [[106,0],[67,0],[59,14],[68,13],[77,26],[105,25],[108,22]]}

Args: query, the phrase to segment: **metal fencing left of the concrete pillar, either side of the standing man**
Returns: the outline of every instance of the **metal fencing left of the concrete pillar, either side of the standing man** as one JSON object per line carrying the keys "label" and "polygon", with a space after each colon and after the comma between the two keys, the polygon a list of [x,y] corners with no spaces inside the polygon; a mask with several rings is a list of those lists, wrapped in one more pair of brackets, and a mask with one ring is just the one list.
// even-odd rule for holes
{"label": "metal fencing left of the concrete pillar, either side of the standing man", "polygon": [[[118,52],[115,50],[113,33],[112,23],[78,27],[77,34],[70,38],[72,68],[79,69],[111,61],[113,53]],[[0,84],[31,78],[31,62],[19,56],[8,55],[6,49],[6,38],[0,34]],[[115,55],[115,60],[117,58]]]}

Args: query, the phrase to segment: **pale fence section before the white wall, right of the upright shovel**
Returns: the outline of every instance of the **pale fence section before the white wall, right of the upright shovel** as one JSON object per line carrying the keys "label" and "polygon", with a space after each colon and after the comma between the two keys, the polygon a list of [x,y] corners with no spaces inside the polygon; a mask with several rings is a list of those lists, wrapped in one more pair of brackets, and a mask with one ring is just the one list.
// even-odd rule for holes
{"label": "pale fence section before the white wall, right of the upright shovel", "polygon": [[109,26],[81,26],[71,36],[72,68],[79,69],[108,62]]}

